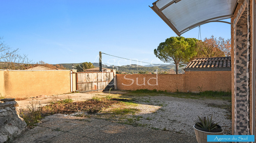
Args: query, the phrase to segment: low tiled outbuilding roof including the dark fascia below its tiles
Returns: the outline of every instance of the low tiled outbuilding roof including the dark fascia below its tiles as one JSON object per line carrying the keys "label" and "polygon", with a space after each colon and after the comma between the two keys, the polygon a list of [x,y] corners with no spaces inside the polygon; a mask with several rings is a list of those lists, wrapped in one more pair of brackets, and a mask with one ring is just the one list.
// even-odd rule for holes
{"label": "low tiled outbuilding roof including the dark fascia below its tiles", "polygon": [[196,58],[190,61],[184,69],[190,71],[231,70],[231,57]]}

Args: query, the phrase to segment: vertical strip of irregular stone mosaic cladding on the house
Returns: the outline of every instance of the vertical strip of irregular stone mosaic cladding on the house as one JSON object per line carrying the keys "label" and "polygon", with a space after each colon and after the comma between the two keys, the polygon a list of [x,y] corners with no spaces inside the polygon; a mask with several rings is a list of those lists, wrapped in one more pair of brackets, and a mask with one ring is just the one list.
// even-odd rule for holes
{"label": "vertical strip of irregular stone mosaic cladding on the house", "polygon": [[234,134],[250,134],[250,3],[245,0],[234,19]]}

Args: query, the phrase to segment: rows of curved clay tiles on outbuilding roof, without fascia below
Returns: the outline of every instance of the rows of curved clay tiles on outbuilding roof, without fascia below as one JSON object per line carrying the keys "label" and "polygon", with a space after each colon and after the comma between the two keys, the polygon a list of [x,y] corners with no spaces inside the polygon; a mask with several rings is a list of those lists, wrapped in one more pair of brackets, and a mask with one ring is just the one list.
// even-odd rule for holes
{"label": "rows of curved clay tiles on outbuilding roof, without fascia below", "polygon": [[227,68],[231,67],[231,57],[196,58],[186,68]]}

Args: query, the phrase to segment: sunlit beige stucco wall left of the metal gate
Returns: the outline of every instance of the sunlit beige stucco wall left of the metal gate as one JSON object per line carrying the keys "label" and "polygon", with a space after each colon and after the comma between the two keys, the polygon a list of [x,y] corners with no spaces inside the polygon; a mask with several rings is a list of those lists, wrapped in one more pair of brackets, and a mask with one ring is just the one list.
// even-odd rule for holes
{"label": "sunlit beige stucco wall left of the metal gate", "polygon": [[[73,91],[75,91],[75,74]],[[71,92],[70,70],[6,70],[4,71],[4,96],[28,98],[38,95],[57,95]]]}

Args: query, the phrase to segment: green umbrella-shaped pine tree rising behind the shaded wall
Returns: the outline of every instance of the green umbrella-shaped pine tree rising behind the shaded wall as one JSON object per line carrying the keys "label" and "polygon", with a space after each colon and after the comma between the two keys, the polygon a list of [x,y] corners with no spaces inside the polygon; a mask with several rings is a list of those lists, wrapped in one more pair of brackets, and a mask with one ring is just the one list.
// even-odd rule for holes
{"label": "green umbrella-shaped pine tree rising behind the shaded wall", "polygon": [[174,63],[175,72],[197,55],[196,38],[170,37],[159,44],[154,54],[165,63]]}

